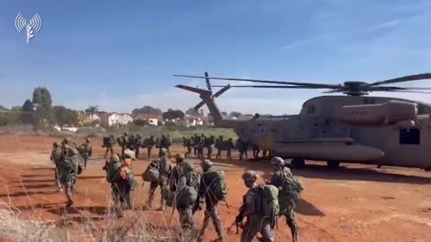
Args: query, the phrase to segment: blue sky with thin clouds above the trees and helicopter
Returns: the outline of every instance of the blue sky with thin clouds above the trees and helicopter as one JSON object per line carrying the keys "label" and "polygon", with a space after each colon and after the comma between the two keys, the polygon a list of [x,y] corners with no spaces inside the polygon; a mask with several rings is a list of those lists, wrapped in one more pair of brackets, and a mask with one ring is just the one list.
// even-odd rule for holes
{"label": "blue sky with thin clouds above the trees and helicopter", "polygon": [[[55,104],[69,108],[186,109],[198,97],[173,86],[205,83],[174,73],[338,83],[431,72],[430,7],[413,0],[2,0],[0,104],[22,105],[47,86]],[[25,30],[15,30],[17,13],[42,18],[30,45]],[[234,90],[217,103],[227,111],[296,113],[320,94]]]}

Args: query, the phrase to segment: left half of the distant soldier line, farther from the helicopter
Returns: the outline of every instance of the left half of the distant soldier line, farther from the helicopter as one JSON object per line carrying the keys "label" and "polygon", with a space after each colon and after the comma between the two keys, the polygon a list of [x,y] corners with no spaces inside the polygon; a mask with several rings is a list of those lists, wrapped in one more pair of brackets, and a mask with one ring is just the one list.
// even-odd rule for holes
{"label": "left half of the distant soldier line, farther from the helicopter", "polygon": [[161,137],[155,138],[154,135],[142,137],[140,134],[127,134],[124,133],[119,136],[117,139],[114,134],[110,134],[109,137],[103,138],[103,148],[106,148],[105,151],[105,159],[108,157],[108,153],[110,156],[114,154],[113,146],[115,144],[119,144],[121,147],[121,156],[124,156],[124,152],[126,150],[134,151],[135,158],[139,158],[140,148],[145,148],[147,153],[147,158],[151,158],[151,153],[154,148],[159,149],[159,153],[161,149],[166,149],[171,157],[170,148],[172,146],[172,138],[169,134],[163,134]]}

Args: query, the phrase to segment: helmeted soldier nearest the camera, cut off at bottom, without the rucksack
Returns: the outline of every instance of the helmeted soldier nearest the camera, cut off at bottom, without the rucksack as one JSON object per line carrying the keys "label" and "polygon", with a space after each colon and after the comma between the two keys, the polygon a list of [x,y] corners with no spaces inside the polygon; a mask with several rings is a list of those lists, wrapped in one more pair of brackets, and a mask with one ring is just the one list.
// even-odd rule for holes
{"label": "helmeted soldier nearest the camera, cut off at bottom, without the rucksack", "polygon": [[[248,170],[242,174],[242,179],[249,191],[244,195],[240,214],[235,219],[237,226],[242,227],[241,241],[251,242],[258,232],[262,235],[263,241],[274,241],[272,221],[262,218],[258,214],[259,194],[256,189],[258,187],[256,184],[258,175],[254,171]],[[242,225],[244,217],[247,217],[247,221]]]}

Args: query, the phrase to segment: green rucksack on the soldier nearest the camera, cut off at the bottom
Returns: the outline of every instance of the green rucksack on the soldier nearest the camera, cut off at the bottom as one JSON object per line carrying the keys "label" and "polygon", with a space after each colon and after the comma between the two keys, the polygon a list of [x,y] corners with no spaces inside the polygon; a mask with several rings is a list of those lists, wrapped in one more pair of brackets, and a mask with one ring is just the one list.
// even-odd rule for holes
{"label": "green rucksack on the soldier nearest the camera, cut off at the bottom", "polygon": [[257,191],[256,210],[261,218],[275,220],[280,212],[278,203],[278,188],[273,185],[259,185]]}

